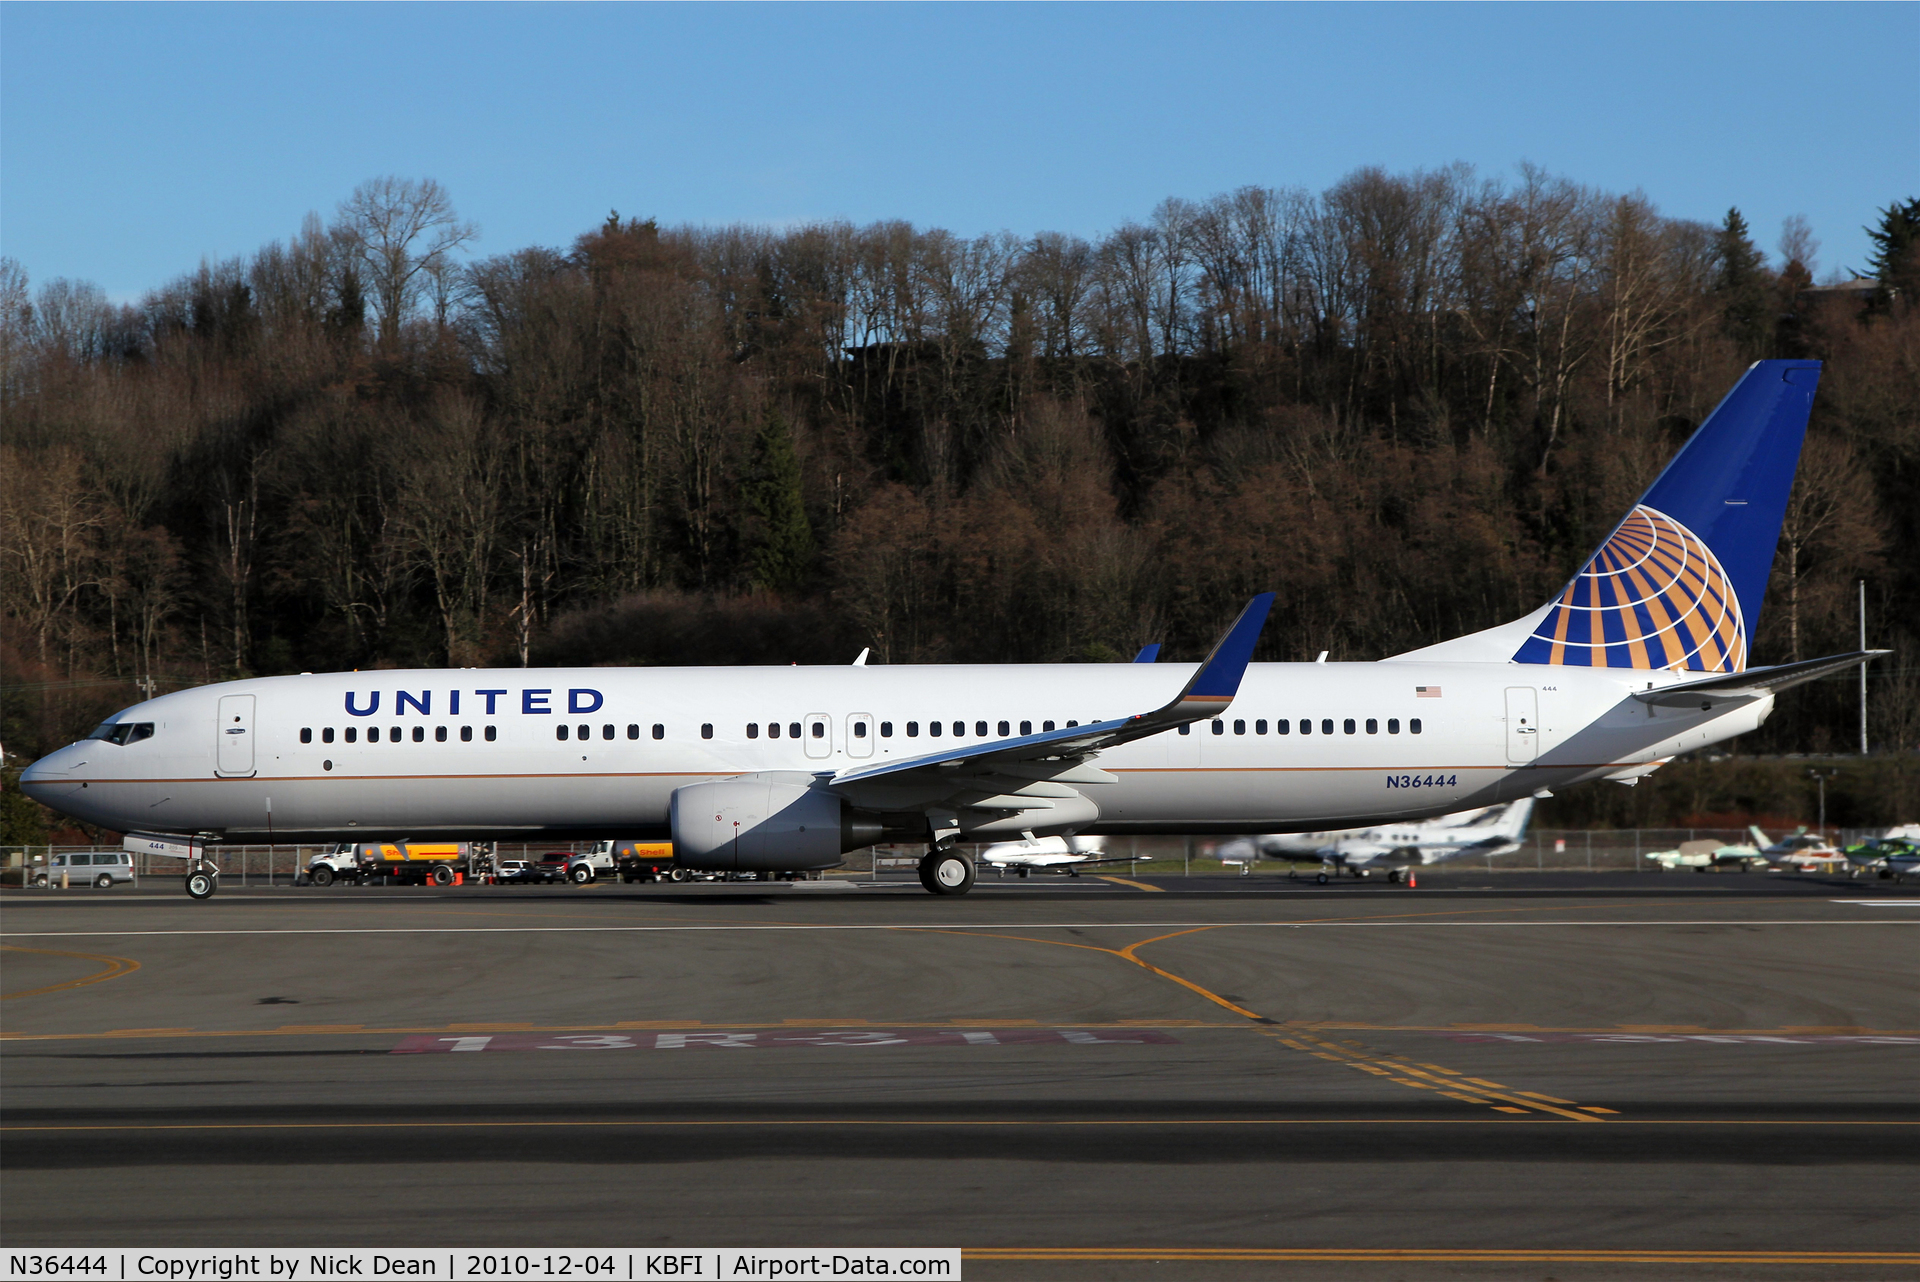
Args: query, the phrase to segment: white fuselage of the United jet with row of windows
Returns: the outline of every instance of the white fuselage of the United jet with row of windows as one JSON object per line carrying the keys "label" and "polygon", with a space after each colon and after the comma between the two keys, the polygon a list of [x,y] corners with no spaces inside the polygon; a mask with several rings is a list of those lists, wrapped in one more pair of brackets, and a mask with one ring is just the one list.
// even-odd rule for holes
{"label": "white fuselage of the United jet with row of windows", "polygon": [[[152,737],[69,745],[29,768],[23,787],[117,831],[225,841],[653,837],[666,833],[668,798],[687,783],[831,773],[950,748],[956,737],[1131,716],[1164,704],[1192,672],[1035,664],[257,677],[136,704],[115,720],[150,722]],[[1649,762],[1753,729],[1772,706],[1676,710],[1630,699],[1688,676],[1697,674],[1252,664],[1219,722],[1100,752],[1098,768],[1117,781],[1083,789],[1098,821],[1077,831],[1275,833],[1446,814],[1645,773]],[[1277,733],[1283,720],[1290,733]]]}

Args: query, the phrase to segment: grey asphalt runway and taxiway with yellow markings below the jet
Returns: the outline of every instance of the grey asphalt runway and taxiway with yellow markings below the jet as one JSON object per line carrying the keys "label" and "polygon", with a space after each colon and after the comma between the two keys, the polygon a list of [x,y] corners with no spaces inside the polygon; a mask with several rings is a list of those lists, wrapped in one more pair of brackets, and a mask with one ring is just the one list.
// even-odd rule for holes
{"label": "grey asphalt runway and taxiway with yellow markings below the jet", "polygon": [[0,896],[25,1246],[1920,1276],[1920,887]]}

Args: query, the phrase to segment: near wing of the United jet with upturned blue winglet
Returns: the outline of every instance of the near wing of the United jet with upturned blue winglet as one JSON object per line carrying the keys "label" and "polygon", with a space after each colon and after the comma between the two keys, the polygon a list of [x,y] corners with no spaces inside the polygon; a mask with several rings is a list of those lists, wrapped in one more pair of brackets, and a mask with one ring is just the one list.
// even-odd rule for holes
{"label": "near wing of the United jet with upturned blue winglet", "polygon": [[[989,796],[1006,800],[1008,810],[1023,810],[1044,796],[1077,796],[1064,785],[1071,783],[1114,783],[1114,775],[1087,766],[1085,760],[1102,748],[1112,748],[1133,739],[1144,739],[1162,731],[1204,722],[1219,716],[1240,691],[1240,677],[1254,658],[1254,643],[1273,608],[1273,593],[1254,597],[1233,628],[1213,645],[1200,670],[1185,689],[1169,702],[1135,716],[1092,722],[1089,725],[1068,725],[1066,729],[1043,735],[1020,735],[1016,739],[991,739],[987,743],[956,745],[943,752],[910,756],[897,762],[877,762],[854,766],[828,777],[828,787],[854,800],[854,804],[876,808],[918,808],[931,806],[960,795],[977,793],[1023,793],[1023,796]],[[1048,789],[1060,787],[1060,793]],[[983,802],[970,802],[981,806]]]}

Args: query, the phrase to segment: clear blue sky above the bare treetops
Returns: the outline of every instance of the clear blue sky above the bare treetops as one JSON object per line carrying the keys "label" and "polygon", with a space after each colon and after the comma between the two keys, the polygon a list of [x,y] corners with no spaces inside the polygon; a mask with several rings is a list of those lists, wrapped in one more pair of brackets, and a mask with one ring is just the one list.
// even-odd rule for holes
{"label": "clear blue sky above the bare treetops", "polygon": [[1920,4],[0,6],[0,253],[121,299],[384,173],[503,253],[609,209],[1092,236],[1523,159],[1860,267],[1920,196]]}

